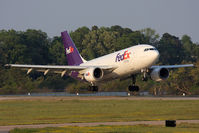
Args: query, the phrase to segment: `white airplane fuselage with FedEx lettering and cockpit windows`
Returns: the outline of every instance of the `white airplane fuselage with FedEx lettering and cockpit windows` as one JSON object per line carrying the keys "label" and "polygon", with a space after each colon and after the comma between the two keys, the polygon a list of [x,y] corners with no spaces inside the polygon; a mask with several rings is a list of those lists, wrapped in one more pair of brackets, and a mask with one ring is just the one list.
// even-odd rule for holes
{"label": "white airplane fuselage with FedEx lettering and cockpit windows", "polygon": [[159,59],[159,52],[151,45],[132,46],[80,64],[80,66],[113,66],[116,69],[103,80],[121,78],[150,68]]}

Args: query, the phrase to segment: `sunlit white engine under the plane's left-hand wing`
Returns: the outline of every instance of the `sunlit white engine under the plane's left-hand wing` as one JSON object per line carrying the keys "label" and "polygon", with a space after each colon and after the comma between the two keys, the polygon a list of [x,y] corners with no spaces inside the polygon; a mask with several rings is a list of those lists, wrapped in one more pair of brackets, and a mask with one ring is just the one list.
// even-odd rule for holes
{"label": "sunlit white engine under the plane's left-hand wing", "polygon": [[102,79],[104,72],[100,68],[89,68],[84,74],[84,78],[89,82],[96,82]]}

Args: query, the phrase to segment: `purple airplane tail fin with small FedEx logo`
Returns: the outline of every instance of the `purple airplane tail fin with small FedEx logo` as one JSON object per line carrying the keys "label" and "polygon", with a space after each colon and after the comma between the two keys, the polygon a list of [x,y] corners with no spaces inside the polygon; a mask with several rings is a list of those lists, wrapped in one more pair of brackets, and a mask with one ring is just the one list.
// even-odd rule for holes
{"label": "purple airplane tail fin with small FedEx logo", "polygon": [[81,55],[79,54],[73,40],[67,31],[61,33],[62,41],[64,44],[68,65],[79,65],[83,63]]}

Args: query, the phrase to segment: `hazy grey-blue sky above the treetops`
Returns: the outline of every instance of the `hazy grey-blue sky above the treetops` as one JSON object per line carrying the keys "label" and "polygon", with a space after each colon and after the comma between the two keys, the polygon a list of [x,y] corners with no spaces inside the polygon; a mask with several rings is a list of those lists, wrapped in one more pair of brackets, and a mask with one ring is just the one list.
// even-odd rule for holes
{"label": "hazy grey-blue sky above the treetops", "polygon": [[93,25],[150,27],[199,42],[199,0],[0,0],[0,30],[41,29],[53,37]]}

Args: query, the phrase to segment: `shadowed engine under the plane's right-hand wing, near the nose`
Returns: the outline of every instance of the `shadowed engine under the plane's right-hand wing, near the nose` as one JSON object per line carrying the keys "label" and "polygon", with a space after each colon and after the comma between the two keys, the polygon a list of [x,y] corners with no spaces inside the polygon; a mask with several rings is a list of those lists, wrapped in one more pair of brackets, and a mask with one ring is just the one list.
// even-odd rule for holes
{"label": "shadowed engine under the plane's right-hand wing, near the nose", "polygon": [[169,70],[166,68],[156,68],[150,74],[151,79],[155,81],[163,81],[168,79],[169,77]]}

